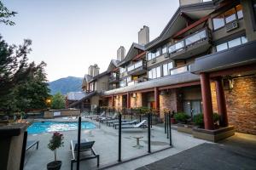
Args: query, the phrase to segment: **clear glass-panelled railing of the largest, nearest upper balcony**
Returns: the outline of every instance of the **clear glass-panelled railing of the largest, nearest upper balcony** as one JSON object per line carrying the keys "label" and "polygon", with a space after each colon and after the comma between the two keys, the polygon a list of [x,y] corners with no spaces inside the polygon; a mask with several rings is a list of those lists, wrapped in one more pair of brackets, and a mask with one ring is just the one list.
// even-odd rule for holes
{"label": "clear glass-panelled railing of the largest, nearest upper balcony", "polygon": [[188,48],[190,45],[193,45],[196,42],[201,42],[202,40],[206,40],[208,37],[207,28],[202,31],[198,31],[189,37],[183,38],[183,40],[176,42],[172,46],[169,47],[169,53],[174,54],[178,51],[182,51],[184,48]]}

